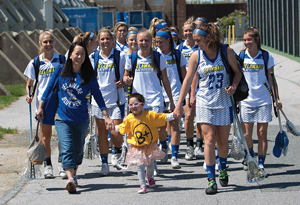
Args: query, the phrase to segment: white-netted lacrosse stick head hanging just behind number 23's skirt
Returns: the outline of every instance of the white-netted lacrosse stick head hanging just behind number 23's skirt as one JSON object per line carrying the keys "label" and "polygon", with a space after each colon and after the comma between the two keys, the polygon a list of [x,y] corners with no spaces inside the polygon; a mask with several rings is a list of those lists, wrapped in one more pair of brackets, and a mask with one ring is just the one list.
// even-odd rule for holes
{"label": "white-netted lacrosse stick head hanging just behind number 23's skirt", "polygon": [[236,120],[233,121],[233,137],[229,155],[235,160],[243,159],[245,156],[245,151],[241,139],[237,135]]}

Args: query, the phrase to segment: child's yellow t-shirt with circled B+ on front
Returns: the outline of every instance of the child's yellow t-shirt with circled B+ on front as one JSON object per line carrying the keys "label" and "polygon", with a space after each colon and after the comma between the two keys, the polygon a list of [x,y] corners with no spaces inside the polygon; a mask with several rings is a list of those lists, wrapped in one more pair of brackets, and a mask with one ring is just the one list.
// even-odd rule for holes
{"label": "child's yellow t-shirt with circled B+ on front", "polygon": [[166,124],[167,114],[143,111],[139,116],[130,113],[123,123],[118,125],[121,134],[129,133],[127,142],[135,146],[149,145],[158,140],[158,127]]}

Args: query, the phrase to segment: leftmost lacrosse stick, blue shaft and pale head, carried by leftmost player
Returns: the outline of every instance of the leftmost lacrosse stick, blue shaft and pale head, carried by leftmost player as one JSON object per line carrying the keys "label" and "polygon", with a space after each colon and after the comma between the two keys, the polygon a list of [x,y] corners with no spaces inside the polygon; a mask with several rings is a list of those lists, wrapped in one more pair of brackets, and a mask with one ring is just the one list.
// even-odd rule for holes
{"label": "leftmost lacrosse stick, blue shaft and pale head, carried by leftmost player", "polygon": [[[28,85],[28,93],[29,97],[31,97],[30,93],[31,86]],[[30,121],[30,142],[32,141],[32,117],[31,117],[31,103],[29,103],[29,121]],[[36,179],[42,176],[41,170],[39,169],[39,165],[34,165],[31,163],[29,159],[27,159],[27,168],[24,171],[24,176],[27,179]]]}

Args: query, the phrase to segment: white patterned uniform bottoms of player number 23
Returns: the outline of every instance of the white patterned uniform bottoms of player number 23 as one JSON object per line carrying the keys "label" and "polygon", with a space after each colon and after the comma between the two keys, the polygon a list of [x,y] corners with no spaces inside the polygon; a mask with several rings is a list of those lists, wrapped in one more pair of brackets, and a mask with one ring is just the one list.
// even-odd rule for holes
{"label": "white patterned uniform bottoms of player number 23", "polygon": [[196,107],[196,123],[208,123],[216,126],[226,126],[233,122],[232,107],[210,109]]}

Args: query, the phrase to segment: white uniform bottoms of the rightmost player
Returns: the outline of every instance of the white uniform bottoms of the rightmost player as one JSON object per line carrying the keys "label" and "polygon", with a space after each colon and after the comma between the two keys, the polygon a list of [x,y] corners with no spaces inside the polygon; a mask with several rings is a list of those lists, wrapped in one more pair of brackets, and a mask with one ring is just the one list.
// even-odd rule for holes
{"label": "white uniform bottoms of the rightmost player", "polygon": [[258,107],[240,106],[241,122],[268,123],[272,121],[272,104]]}

